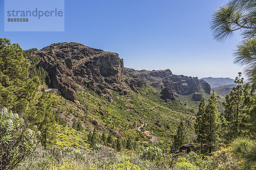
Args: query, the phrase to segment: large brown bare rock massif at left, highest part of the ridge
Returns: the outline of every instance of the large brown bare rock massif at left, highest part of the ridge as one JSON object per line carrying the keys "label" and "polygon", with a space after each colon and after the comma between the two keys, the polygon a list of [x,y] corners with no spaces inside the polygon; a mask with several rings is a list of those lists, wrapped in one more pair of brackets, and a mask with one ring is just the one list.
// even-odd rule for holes
{"label": "large brown bare rock massif at left, highest part of the ridge", "polygon": [[118,54],[90,48],[77,42],[63,42],[33,51],[42,59],[38,66],[44,68],[51,80],[50,86],[58,88],[62,96],[76,102],[77,85],[100,94],[109,90],[128,94],[123,80],[123,59]]}

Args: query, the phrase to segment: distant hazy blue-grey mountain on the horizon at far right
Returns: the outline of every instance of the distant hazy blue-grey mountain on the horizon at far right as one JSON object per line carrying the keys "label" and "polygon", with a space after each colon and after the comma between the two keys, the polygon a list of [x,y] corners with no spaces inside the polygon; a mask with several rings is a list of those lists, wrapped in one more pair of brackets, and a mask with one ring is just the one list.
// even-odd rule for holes
{"label": "distant hazy blue-grey mountain on the horizon at far right", "polygon": [[234,84],[234,79],[230,79],[230,78],[223,78],[223,77],[204,77],[202,78],[204,81],[206,81],[207,83],[209,83],[209,85],[211,86],[211,88],[216,88],[220,85],[231,85]]}

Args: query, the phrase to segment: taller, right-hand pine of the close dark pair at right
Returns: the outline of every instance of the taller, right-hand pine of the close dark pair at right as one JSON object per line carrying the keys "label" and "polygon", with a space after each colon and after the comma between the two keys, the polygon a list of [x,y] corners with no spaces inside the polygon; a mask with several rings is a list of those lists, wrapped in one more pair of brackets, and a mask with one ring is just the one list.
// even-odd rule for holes
{"label": "taller, right-hand pine of the close dark pair at right", "polygon": [[209,98],[208,105],[206,106],[205,112],[205,132],[206,132],[206,143],[209,148],[209,153],[218,139],[218,106],[217,98],[213,92],[212,96]]}

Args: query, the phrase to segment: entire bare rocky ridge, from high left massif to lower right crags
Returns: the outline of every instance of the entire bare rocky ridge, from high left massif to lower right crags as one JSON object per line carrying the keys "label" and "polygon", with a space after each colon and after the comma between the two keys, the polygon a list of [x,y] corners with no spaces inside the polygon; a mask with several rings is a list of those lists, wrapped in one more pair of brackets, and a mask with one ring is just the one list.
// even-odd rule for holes
{"label": "entire bare rocky ridge, from high left massif to lower right crags", "polygon": [[[84,87],[105,96],[116,91],[127,95],[130,90],[139,93],[146,82],[160,88],[164,99],[174,100],[174,95],[189,95],[204,89],[210,94],[207,82],[197,77],[174,75],[167,70],[134,70],[124,68],[123,59],[118,54],[90,48],[77,42],[63,42],[32,51],[41,57],[38,66],[49,73],[49,87],[57,88],[62,96],[73,101],[76,92]],[[111,100],[110,96],[110,100]]]}

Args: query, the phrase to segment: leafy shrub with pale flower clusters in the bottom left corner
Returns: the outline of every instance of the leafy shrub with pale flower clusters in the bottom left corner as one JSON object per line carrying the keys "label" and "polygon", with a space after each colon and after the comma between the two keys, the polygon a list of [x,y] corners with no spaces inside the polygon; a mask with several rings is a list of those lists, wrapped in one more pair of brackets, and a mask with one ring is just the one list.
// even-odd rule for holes
{"label": "leafy shrub with pale flower clusters in the bottom left corner", "polygon": [[17,114],[3,108],[0,111],[0,169],[13,169],[33,153],[38,144],[37,136]]}

